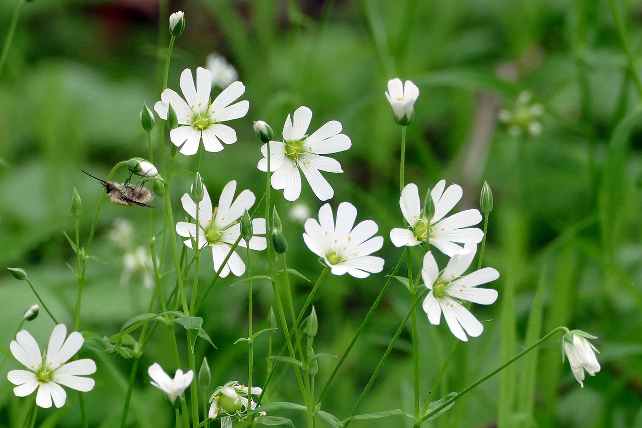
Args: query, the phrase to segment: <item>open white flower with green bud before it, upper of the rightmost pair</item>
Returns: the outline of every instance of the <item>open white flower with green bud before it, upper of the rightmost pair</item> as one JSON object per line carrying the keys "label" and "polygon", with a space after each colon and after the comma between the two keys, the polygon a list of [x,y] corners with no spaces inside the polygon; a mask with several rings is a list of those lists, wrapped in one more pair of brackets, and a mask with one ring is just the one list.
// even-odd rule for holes
{"label": "open white flower with green bud before it, upper of the rightmost pair", "polygon": [[439,251],[452,256],[462,249],[455,242],[482,242],[482,229],[474,226],[482,221],[482,214],[479,210],[465,210],[460,213],[444,218],[450,210],[462,199],[462,188],[457,184],[446,187],[446,180],[441,180],[430,192],[435,204],[435,215],[427,218],[426,213],[421,209],[419,201],[419,189],[416,184],[406,184],[401,192],[399,206],[403,213],[408,229],[395,227],[390,231],[390,240],[396,247],[407,245],[412,247],[426,242],[429,237],[429,244]]}

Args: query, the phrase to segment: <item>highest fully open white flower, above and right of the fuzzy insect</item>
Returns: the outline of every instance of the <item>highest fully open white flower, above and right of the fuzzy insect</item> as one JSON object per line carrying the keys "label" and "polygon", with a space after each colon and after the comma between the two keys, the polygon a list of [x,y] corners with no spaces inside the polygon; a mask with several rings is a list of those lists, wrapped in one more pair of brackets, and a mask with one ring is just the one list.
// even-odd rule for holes
{"label": "highest fully open white flower, above and right of the fuzzy insect", "polygon": [[193,155],[198,151],[202,139],[203,147],[208,152],[223,150],[225,144],[236,143],[236,131],[223,121],[242,118],[247,114],[250,103],[247,100],[230,105],[245,93],[241,82],[234,82],[221,92],[213,103],[209,103],[212,89],[212,75],[203,67],[196,69],[196,87],[189,69],[180,75],[180,89],[185,99],[180,98],[172,89],[165,89],[160,94],[161,101],[155,103],[154,109],[160,118],[167,120],[168,104],[176,112],[179,126],[169,132],[171,142],[180,147],[184,155]]}

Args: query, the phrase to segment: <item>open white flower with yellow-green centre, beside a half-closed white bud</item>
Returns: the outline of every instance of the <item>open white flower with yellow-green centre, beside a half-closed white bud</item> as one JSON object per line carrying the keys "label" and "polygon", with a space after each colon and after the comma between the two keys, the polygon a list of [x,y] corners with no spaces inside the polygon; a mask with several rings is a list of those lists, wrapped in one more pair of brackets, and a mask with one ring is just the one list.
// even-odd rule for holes
{"label": "open white flower with yellow-green centre, beside a half-closed white bud", "polygon": [[[283,196],[288,201],[296,201],[301,193],[301,175],[308,179],[310,187],[321,201],[327,201],[334,195],[334,190],[319,171],[343,172],[338,161],[331,157],[320,156],[329,153],[343,152],[351,147],[352,142],[345,134],[340,134],[341,123],[331,120],[316,132],[307,135],[312,111],[308,107],[299,107],[290,115],[283,127],[283,141],[270,141],[270,171],[272,187],[284,189]],[[265,156],[259,161],[259,170],[268,170],[268,144],[261,147]]]}

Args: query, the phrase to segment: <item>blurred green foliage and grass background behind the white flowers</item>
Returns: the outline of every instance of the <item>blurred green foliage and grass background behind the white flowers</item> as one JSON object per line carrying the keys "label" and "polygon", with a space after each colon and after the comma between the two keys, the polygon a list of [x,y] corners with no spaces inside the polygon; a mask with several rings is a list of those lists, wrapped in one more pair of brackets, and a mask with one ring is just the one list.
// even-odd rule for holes
{"label": "blurred green foliage and grass background behind the white flowers", "polygon": [[[461,184],[464,199],[458,209],[476,207],[483,181],[490,184],[495,209],[484,264],[501,273],[490,285],[499,299],[490,307],[473,305],[485,331],[459,346],[437,397],[464,388],[555,326],[599,337],[602,371],[587,379],[584,389],[568,362],[562,365],[553,339],[423,426],[642,427],[642,110],[609,1],[161,3],[28,3],[0,76],[0,266],[25,269],[63,322],[71,324],[76,295],[76,280],[65,266],[75,257],[62,233],[73,233],[72,190],[82,197],[81,239],[86,242],[104,191],[81,170],[106,177],[118,161],[148,157],[139,112],[143,102],[152,107],[160,98],[168,12],[183,10],[186,30],[175,44],[169,87],[178,91],[180,72],[204,66],[216,51],[236,67],[247,87],[243,98],[250,101],[248,115],[230,123],[238,142],[220,153],[204,153],[202,174],[213,199],[230,179],[259,199],[265,176],[256,168],[261,154],[252,121],[268,121],[280,134],[286,115],[307,105],[314,113],[310,130],[339,120],[352,139],[352,148],[335,156],[345,174],[325,174],[335,190],[332,202],[351,201],[358,220],[376,220],[386,237],[377,255],[386,259],[384,273],[392,270],[402,253],[388,240],[390,229],[401,223],[400,130],[384,91],[387,80],[397,76],[412,79],[421,90],[408,128],[406,182],[417,183],[421,192],[442,178]],[[637,65],[642,1],[613,3]],[[2,42],[15,4],[0,0]],[[525,90],[532,93],[532,103],[544,106],[537,136],[514,136],[497,119],[501,108],[514,109]],[[189,169],[194,163],[193,157],[178,154],[174,167]],[[115,179],[124,181],[123,174]],[[190,174],[172,181],[179,218],[184,213],[178,201],[189,183]],[[286,218],[293,204],[280,193],[273,199]],[[321,205],[307,185],[300,201],[313,215]],[[160,207],[160,200],[154,204]],[[92,254],[107,263],[88,266],[81,323],[81,330],[100,336],[116,333],[127,319],[145,312],[150,297],[139,276],[127,285],[121,281],[123,250],[108,238],[117,218],[135,225],[131,245],[146,245],[137,233],[147,232],[146,210],[103,205]],[[301,224],[286,222],[289,263],[315,281],[322,267],[304,246],[302,231]],[[419,266],[419,253],[415,256]],[[446,262],[439,260],[442,266]],[[202,265],[207,284],[211,265]],[[254,270],[266,271],[265,255],[255,256]],[[24,310],[36,301],[25,283],[4,272],[0,350],[7,353]],[[233,379],[247,382],[247,346],[233,344],[247,334],[247,284],[230,287],[236,281],[218,281],[199,314],[218,347],[199,343],[196,356],[200,361],[207,355],[213,387]],[[293,281],[300,308],[311,284]],[[313,302],[320,319],[317,352],[343,353],[384,282],[383,273],[367,280],[332,276],[324,281]],[[254,316],[263,328],[272,290],[269,283],[255,288]],[[394,283],[322,409],[347,416],[409,300],[406,289]],[[455,339],[444,323],[432,326],[421,309],[419,315],[423,400]],[[26,326],[41,344],[51,327],[46,314]],[[146,374],[153,362],[171,371],[161,330],[141,360],[132,427],[173,426],[170,406]],[[275,338],[280,346],[282,337]],[[85,395],[90,426],[119,426],[132,360],[83,353],[98,364],[96,388]],[[260,385],[265,336],[257,342],[257,355]],[[9,361],[0,377],[3,427],[19,426],[27,402],[13,396],[6,371],[18,364]],[[321,361],[318,384],[335,362]],[[268,397],[300,402],[296,391],[293,378],[285,377]],[[79,426],[77,397],[69,393],[63,409],[41,410],[39,424]],[[412,413],[412,403],[408,326],[360,413],[394,408]],[[302,414],[279,415],[304,425]],[[412,426],[400,418],[352,425]]]}

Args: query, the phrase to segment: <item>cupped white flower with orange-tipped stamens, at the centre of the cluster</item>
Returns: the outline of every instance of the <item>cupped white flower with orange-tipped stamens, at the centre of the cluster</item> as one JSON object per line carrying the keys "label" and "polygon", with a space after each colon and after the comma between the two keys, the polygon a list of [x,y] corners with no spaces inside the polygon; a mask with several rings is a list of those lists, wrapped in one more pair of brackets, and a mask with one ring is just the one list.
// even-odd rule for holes
{"label": "cupped white flower with orange-tipped stamens, at the centre of the cluster", "polygon": [[336,226],[330,204],[321,207],[318,222],[314,218],[306,221],[303,240],[334,275],[347,272],[354,278],[366,278],[370,273],[383,271],[383,258],[369,255],[383,245],[383,237],[372,238],[379,227],[372,220],[365,220],[353,228],[356,217],[354,205],[342,202],[336,210]]}

